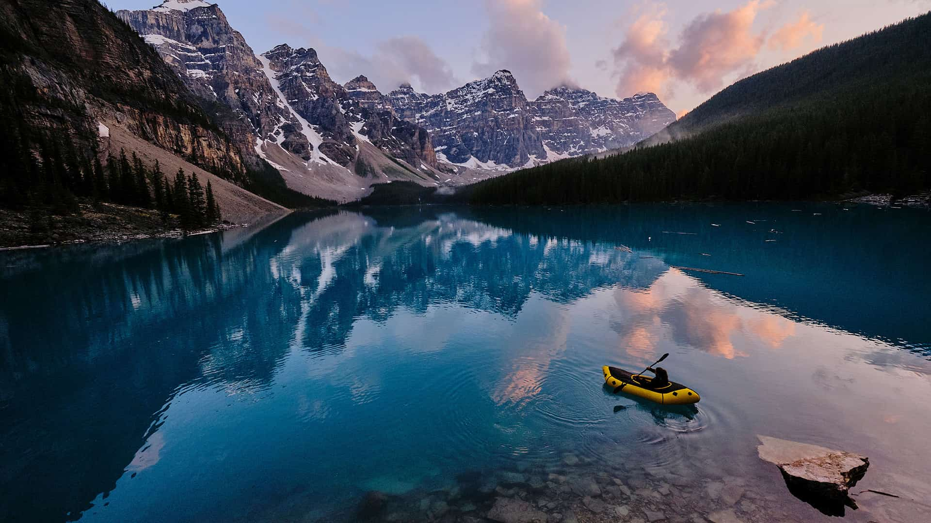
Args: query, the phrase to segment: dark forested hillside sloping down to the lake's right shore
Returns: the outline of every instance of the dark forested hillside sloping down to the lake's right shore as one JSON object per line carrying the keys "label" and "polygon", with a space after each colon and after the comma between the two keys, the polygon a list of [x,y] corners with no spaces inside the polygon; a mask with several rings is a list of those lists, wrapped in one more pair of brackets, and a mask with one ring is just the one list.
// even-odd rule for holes
{"label": "dark forested hillside sloping down to the lake's right shore", "polygon": [[461,197],[556,204],[907,194],[931,183],[929,112],[931,14],[737,82],[670,126],[668,143],[521,170]]}

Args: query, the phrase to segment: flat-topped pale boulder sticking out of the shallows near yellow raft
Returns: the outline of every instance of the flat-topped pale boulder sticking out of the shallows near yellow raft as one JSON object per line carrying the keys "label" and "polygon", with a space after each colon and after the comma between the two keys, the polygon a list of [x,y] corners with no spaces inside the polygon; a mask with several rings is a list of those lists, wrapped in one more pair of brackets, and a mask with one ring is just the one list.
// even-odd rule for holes
{"label": "flat-topped pale boulder sticking out of the shallows near yellow raft", "polygon": [[[792,493],[812,504],[828,503],[831,512],[832,503],[856,507],[847,492],[866,474],[870,466],[866,456],[775,437],[757,437],[762,443],[757,447],[760,458],[776,463]],[[816,507],[825,508],[818,504]]]}

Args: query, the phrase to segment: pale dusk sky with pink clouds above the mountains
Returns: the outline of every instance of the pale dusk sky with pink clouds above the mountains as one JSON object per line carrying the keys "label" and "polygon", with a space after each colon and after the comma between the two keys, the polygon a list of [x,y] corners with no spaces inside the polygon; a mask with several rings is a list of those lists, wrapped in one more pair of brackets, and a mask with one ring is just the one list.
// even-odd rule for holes
{"label": "pale dusk sky with pink clouds above the mountains", "polygon": [[[514,73],[528,98],[655,92],[685,114],[784,61],[931,10],[931,0],[217,0],[262,53],[314,47],[334,80],[437,93]],[[105,0],[142,9],[160,0]]]}

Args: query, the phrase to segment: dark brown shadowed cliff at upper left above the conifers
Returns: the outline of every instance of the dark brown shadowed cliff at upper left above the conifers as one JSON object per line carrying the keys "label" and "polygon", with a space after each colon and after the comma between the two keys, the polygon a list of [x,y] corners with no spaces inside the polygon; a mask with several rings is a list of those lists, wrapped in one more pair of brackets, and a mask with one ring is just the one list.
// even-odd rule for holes
{"label": "dark brown shadowed cliff at upper left above the conifers", "polygon": [[98,2],[4,2],[0,24],[20,42],[4,49],[0,81],[24,89],[20,109],[34,132],[63,132],[83,150],[105,153],[118,127],[197,166],[244,174],[236,142],[152,47]]}

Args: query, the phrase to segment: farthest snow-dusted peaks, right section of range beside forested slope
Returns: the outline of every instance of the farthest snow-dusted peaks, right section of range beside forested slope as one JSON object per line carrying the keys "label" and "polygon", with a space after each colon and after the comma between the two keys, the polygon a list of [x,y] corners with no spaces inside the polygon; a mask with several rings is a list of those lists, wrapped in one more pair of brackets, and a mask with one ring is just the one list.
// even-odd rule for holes
{"label": "farthest snow-dusted peaks, right section of range beside forested slope", "polygon": [[479,168],[520,168],[627,147],[676,119],[653,93],[614,100],[557,87],[527,101],[505,70],[438,95],[405,84],[388,99],[401,118],[430,131],[441,159]]}

